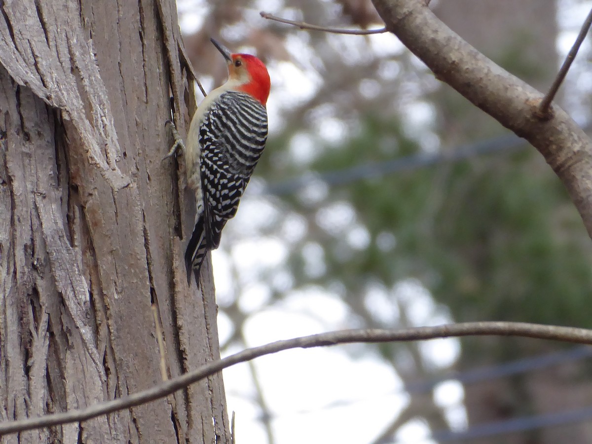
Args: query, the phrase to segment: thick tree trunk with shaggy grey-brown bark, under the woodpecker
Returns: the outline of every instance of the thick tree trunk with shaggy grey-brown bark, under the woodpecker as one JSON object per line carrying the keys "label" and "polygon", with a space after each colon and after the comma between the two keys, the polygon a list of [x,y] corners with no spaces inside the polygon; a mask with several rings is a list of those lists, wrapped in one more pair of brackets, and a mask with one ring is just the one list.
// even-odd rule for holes
{"label": "thick tree trunk with shaggy grey-brown bark, under the woodpecker", "polygon": [[[219,350],[211,269],[203,294],[185,283],[179,227],[192,229],[191,195],[161,162],[170,91],[179,118],[192,83],[175,2],[19,0],[0,11],[5,421],[137,392]],[[0,437],[56,441],[230,442],[221,377],[108,417]]]}

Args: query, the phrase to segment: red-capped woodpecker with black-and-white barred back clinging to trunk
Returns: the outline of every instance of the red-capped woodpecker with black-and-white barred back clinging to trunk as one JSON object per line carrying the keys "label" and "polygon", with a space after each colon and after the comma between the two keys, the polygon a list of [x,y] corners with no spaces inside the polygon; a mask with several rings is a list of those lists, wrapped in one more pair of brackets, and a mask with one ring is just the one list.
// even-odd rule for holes
{"label": "red-capped woodpecker with black-and-white barred back clinging to trunk", "polygon": [[[195,192],[195,229],[185,251],[187,279],[220,244],[267,140],[269,74],[250,54],[234,54],[211,39],[228,63],[229,79],[197,107],[184,149],[187,184]],[[171,152],[180,140],[177,140]],[[199,279],[198,279],[199,284]]]}

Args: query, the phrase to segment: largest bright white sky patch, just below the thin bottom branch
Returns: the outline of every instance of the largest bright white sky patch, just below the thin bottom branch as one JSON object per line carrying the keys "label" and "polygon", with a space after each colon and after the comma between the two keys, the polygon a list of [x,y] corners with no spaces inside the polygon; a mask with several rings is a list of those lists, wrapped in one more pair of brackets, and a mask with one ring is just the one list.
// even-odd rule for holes
{"label": "largest bright white sky patch, just below the thin bottom branch", "polygon": [[337,349],[287,350],[255,365],[282,444],[368,442],[407,403],[392,368]]}

